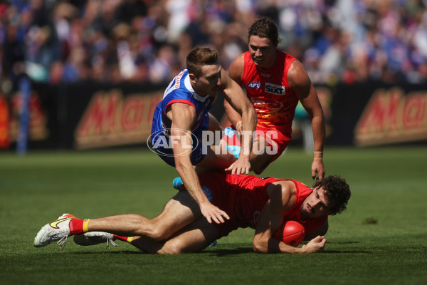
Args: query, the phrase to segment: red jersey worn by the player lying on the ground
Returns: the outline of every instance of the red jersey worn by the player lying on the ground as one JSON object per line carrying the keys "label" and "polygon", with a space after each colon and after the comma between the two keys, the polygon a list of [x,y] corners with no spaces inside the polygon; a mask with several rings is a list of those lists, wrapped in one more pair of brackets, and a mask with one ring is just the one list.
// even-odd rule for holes
{"label": "red jersey worn by the player lying on the ground", "polygon": [[199,179],[203,187],[211,190],[212,203],[219,209],[223,209],[230,217],[225,223],[216,225],[219,237],[226,236],[239,227],[255,229],[265,202],[269,199],[268,185],[280,180],[292,181],[297,188],[295,206],[283,216],[283,219],[300,222],[305,227],[306,234],[310,234],[327,221],[327,216],[307,220],[301,218],[302,202],[310,195],[312,189],[296,180],[231,175],[226,172],[204,173],[199,175]]}

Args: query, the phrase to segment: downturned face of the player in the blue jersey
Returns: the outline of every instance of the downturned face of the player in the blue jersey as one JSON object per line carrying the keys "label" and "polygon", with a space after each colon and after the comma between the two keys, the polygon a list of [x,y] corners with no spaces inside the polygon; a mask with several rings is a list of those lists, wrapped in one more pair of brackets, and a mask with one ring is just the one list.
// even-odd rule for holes
{"label": "downturned face of the player in the blue jersey", "polygon": [[201,96],[216,95],[221,86],[221,71],[220,64],[201,66],[201,76],[193,81],[196,93]]}

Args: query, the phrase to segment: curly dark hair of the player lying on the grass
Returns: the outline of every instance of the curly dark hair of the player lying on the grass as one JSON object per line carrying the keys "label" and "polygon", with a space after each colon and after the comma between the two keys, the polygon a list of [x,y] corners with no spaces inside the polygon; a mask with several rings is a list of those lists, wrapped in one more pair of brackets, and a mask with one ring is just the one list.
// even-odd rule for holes
{"label": "curly dark hair of the player lying on the grass", "polygon": [[313,187],[323,187],[327,199],[334,201],[334,207],[331,209],[331,214],[338,214],[346,209],[347,202],[349,202],[350,196],[350,187],[340,176],[328,176],[322,180],[317,180]]}

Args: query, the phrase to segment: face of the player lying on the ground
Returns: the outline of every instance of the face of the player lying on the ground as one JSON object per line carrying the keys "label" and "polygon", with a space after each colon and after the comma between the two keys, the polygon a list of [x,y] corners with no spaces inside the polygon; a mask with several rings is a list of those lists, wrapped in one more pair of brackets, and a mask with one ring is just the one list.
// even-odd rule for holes
{"label": "face of the player lying on the ground", "polygon": [[332,206],[333,203],[327,199],[325,190],[317,187],[302,203],[301,216],[305,219],[323,217],[330,214]]}

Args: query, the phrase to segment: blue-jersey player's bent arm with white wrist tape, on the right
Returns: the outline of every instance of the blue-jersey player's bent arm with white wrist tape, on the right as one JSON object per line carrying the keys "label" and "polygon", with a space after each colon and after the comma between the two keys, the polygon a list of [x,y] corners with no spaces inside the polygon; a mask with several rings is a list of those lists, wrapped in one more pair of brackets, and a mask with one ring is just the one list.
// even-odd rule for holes
{"label": "blue-jersey player's bent arm with white wrist tape, on the right", "polygon": [[251,169],[249,158],[252,151],[252,135],[256,128],[256,113],[251,102],[249,102],[243,90],[233,81],[226,71],[221,71],[221,89],[224,98],[230,103],[234,110],[241,115],[242,136],[241,136],[241,153],[238,160],[234,162],[226,171],[232,174],[248,174]]}

